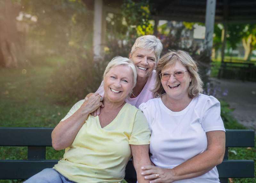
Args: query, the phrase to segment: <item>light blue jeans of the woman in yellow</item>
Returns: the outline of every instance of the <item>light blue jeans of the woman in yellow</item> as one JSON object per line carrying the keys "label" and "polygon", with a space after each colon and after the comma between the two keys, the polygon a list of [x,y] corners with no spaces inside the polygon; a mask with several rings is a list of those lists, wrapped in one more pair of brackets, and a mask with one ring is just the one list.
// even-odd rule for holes
{"label": "light blue jeans of the woman in yellow", "polygon": [[46,168],[36,175],[33,175],[26,183],[74,183],[74,181],[61,175],[57,170],[53,168]]}

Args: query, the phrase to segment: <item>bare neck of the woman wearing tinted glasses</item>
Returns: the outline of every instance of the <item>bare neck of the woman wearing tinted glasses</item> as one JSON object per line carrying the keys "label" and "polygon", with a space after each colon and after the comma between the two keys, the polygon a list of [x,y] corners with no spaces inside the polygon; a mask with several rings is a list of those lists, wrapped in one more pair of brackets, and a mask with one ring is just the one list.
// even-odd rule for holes
{"label": "bare neck of the woman wearing tinted glasses", "polygon": [[183,109],[185,109],[188,104],[191,102],[191,98],[187,97],[183,97],[182,99],[174,99],[170,96],[168,96],[167,94],[164,94],[161,97],[164,105],[170,109],[173,112],[179,112],[182,111]]}

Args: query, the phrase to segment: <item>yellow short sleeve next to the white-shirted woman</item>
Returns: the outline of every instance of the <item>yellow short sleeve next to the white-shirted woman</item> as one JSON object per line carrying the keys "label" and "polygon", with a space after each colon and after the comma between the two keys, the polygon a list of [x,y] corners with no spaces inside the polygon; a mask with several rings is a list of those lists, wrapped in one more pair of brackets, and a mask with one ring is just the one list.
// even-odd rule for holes
{"label": "yellow short sleeve next to the white-shirted woman", "polygon": [[131,136],[129,137],[129,144],[132,145],[146,145],[150,142],[151,132],[148,127],[148,122],[141,110],[135,115]]}

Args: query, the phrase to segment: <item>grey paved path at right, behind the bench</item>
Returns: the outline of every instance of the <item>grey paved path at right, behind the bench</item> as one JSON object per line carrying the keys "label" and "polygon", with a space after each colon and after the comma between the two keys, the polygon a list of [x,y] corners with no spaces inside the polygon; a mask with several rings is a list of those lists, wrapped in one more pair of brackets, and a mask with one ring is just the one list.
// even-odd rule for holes
{"label": "grey paved path at right, behind the bench", "polygon": [[214,79],[220,82],[221,91],[228,89],[228,95],[223,95],[231,108],[232,115],[238,123],[249,129],[256,129],[256,82],[240,80]]}

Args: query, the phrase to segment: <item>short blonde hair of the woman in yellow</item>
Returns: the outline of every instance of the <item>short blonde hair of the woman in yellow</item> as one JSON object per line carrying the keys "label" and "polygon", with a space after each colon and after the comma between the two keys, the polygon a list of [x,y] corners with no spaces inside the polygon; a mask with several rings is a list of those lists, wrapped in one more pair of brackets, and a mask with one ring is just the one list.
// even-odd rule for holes
{"label": "short blonde hair of the woman in yellow", "polygon": [[126,58],[126,57],[120,57],[120,56],[117,56],[115,58],[113,58],[107,65],[105,71],[104,71],[104,74],[103,74],[103,80],[105,79],[105,76],[107,75],[107,73],[109,72],[109,70],[111,68],[114,68],[116,66],[119,66],[119,65],[127,65],[129,68],[132,69],[132,76],[133,76],[133,86],[132,88],[135,87],[136,85],[136,81],[137,81],[137,71],[136,71],[136,66],[134,65],[134,63]]}

